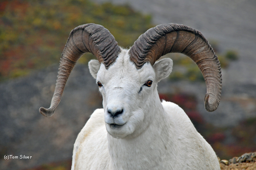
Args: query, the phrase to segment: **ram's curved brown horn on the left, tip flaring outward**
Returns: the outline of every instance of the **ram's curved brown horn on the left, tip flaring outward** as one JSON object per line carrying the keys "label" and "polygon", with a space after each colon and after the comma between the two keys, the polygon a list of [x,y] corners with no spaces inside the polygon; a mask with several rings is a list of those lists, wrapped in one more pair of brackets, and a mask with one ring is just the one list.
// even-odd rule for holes
{"label": "ram's curved brown horn on the left, tip flaring outward", "polygon": [[108,69],[116,61],[120,51],[113,35],[103,26],[90,23],[73,29],[61,55],[51,106],[49,109],[41,107],[39,112],[46,117],[53,115],[61,101],[67,79],[81,55],[86,52],[92,53]]}

